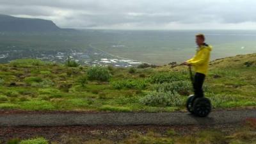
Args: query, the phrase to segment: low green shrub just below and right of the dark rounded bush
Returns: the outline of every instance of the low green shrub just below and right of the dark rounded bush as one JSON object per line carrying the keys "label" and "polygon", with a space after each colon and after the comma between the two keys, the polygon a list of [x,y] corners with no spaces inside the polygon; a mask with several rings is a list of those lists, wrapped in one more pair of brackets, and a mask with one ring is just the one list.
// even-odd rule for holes
{"label": "low green shrub just below and right of the dark rounded bush", "polygon": [[134,88],[134,89],[143,90],[148,85],[145,80],[134,80],[134,79],[127,79],[124,81],[114,81],[111,84],[113,88],[117,90],[121,90],[123,88]]}

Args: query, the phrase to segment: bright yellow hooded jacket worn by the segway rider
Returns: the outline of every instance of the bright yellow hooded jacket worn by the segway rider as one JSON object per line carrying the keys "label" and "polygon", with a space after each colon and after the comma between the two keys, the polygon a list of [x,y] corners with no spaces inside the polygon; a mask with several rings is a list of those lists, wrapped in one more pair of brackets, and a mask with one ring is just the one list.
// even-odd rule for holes
{"label": "bright yellow hooded jacket worn by the segway rider", "polygon": [[195,68],[195,72],[207,75],[211,51],[212,47],[210,45],[201,45],[198,47],[195,56],[186,62]]}

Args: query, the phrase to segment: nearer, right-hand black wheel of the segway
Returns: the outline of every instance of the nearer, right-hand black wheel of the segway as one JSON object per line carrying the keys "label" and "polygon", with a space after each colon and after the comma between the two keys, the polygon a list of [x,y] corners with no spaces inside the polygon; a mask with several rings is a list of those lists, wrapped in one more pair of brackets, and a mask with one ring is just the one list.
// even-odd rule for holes
{"label": "nearer, right-hand black wheel of the segway", "polygon": [[193,104],[195,115],[205,117],[211,113],[211,101],[205,97],[198,97]]}

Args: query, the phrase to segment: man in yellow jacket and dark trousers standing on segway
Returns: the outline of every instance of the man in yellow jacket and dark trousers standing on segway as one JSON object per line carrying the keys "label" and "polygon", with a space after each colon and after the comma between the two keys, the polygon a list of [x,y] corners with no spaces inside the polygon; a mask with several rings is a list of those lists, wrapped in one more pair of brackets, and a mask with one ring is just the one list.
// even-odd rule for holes
{"label": "man in yellow jacket and dark trousers standing on segway", "polygon": [[196,44],[198,45],[196,54],[190,60],[184,62],[184,65],[194,67],[195,77],[193,88],[196,97],[204,97],[203,84],[205,76],[208,72],[209,61],[212,47],[205,44],[205,36],[203,34],[196,35]]}

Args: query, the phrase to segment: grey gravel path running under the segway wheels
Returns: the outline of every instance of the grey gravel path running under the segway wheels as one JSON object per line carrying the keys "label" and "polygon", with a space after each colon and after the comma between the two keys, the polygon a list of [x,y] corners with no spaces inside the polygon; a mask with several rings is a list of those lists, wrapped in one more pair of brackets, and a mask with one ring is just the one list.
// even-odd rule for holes
{"label": "grey gravel path running under the segway wheels", "polygon": [[212,111],[199,118],[189,113],[20,113],[1,114],[0,127],[68,125],[218,125],[256,118],[256,109]]}

